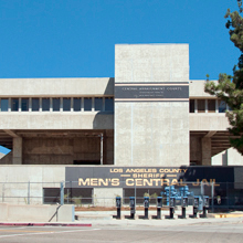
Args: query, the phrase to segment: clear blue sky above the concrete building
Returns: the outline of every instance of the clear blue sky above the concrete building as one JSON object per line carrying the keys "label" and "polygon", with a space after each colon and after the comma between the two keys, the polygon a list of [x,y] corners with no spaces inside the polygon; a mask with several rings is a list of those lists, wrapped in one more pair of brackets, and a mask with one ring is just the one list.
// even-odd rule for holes
{"label": "clear blue sky above the concrete building", "polygon": [[236,0],[0,0],[0,78],[113,77],[117,43],[189,43],[190,80],[215,80],[240,55],[228,8]]}

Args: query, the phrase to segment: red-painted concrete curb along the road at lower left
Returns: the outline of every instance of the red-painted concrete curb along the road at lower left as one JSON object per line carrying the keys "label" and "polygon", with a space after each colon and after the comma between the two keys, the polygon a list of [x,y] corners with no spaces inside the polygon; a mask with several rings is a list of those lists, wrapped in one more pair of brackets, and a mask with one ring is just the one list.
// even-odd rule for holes
{"label": "red-painted concrete curb along the road at lower left", "polygon": [[91,223],[0,223],[0,226],[92,226]]}

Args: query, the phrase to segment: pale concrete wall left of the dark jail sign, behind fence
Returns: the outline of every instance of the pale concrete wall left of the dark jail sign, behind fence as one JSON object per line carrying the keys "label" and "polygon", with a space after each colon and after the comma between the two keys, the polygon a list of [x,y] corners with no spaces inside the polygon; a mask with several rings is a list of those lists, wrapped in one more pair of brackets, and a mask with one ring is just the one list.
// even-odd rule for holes
{"label": "pale concrete wall left of the dark jail sign, behind fence", "polygon": [[[64,166],[22,166],[11,165],[0,167],[0,202],[27,204],[28,187],[30,184],[30,203],[43,203],[43,188],[60,188],[65,180]],[[9,198],[13,197],[13,198]]]}

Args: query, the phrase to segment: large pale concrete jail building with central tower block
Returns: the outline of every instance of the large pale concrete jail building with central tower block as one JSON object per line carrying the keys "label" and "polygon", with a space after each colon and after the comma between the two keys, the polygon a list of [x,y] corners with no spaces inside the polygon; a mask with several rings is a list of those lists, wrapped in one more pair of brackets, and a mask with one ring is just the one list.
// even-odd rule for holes
{"label": "large pale concrete jail building with central tower block", "polygon": [[2,78],[0,145],[12,151],[0,176],[61,181],[73,165],[243,165],[232,150],[237,161],[222,159],[229,107],[204,83],[189,80],[188,44],[118,44],[115,78]]}

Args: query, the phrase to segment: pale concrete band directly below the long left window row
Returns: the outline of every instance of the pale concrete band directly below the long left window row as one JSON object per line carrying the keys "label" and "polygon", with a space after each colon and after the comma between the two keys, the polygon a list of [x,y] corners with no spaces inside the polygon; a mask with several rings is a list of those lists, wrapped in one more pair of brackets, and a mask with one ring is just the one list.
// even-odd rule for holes
{"label": "pale concrete band directly below the long left window row", "polygon": [[0,129],[114,129],[113,113],[1,113]]}

